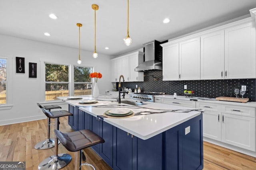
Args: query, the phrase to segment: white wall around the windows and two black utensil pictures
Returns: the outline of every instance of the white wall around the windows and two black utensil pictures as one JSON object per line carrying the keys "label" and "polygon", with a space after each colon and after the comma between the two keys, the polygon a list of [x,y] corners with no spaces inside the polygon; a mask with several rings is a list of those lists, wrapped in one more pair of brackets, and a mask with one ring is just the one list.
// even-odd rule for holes
{"label": "white wall around the windows and two black utensil pictures", "polygon": [[[98,86],[100,94],[105,94],[105,91],[112,90],[112,56],[99,54],[94,59],[92,52],[93,49],[90,52],[81,50],[81,66],[93,66],[94,71],[102,73]],[[44,61],[71,64],[71,68],[78,65],[78,49],[5,35],[0,35],[0,57],[8,58],[7,97],[8,105],[12,105],[11,109],[1,109],[0,106],[0,125],[46,118],[36,105],[44,102]],[[25,73],[16,73],[16,57],[25,58]],[[37,63],[37,78],[28,78],[28,63]],[[66,104],[61,106],[67,109]]]}

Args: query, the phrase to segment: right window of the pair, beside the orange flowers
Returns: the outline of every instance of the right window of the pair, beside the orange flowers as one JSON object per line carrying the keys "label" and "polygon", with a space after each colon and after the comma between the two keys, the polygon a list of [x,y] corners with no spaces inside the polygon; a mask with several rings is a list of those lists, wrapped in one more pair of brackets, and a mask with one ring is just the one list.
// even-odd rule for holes
{"label": "right window of the pair, beside the orange flowers", "polygon": [[92,94],[92,67],[74,66],[74,96]]}

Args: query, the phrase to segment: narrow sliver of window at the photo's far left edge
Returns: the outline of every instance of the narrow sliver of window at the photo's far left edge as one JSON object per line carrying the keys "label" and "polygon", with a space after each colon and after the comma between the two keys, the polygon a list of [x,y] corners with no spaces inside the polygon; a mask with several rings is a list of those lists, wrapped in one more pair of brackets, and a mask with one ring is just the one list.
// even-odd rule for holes
{"label": "narrow sliver of window at the photo's far left edge", "polygon": [[7,59],[0,58],[0,104],[6,104],[6,63]]}

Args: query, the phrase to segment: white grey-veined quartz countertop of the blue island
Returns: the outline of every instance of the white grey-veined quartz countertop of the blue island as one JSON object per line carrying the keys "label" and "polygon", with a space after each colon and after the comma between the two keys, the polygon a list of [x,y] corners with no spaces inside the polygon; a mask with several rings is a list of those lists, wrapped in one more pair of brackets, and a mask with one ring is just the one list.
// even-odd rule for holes
{"label": "white grey-veined quartz countertop of the blue island", "polygon": [[[79,104],[79,100],[65,100],[65,98],[61,98],[66,103],[72,106],[77,106],[82,111],[85,111],[95,117],[103,115],[105,111],[119,107],[132,110],[135,113],[132,117],[118,119],[104,117],[103,120],[144,140],[158,135],[201,114],[201,111],[190,107],[173,106],[153,102],[144,102],[146,104],[142,106],[132,106],[122,103],[118,104],[116,99],[113,100],[108,97],[109,96],[100,96],[96,99],[98,100],[98,103],[96,104]],[[92,99],[92,97],[83,96],[82,100],[85,99]]]}

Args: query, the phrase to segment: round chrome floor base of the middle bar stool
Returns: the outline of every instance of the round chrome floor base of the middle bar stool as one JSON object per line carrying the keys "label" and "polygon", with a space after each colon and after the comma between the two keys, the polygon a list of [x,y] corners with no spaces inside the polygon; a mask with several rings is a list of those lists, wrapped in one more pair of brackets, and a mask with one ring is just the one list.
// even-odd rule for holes
{"label": "round chrome floor base of the middle bar stool", "polygon": [[38,165],[38,170],[58,170],[68,165],[71,161],[70,154],[58,154],[58,156],[50,156]]}

